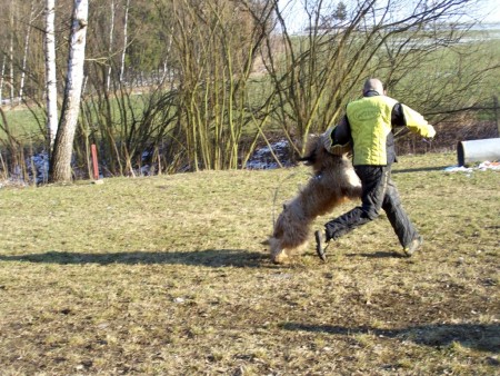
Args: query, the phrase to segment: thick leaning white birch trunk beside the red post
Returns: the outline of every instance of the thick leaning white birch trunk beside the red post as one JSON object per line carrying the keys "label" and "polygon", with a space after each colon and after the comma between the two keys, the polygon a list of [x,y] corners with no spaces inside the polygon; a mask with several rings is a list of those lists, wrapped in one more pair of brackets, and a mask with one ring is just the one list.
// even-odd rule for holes
{"label": "thick leaning white birch trunk beside the red post", "polygon": [[51,182],[71,181],[71,157],[83,85],[88,12],[88,0],[74,0],[64,100],[50,162]]}

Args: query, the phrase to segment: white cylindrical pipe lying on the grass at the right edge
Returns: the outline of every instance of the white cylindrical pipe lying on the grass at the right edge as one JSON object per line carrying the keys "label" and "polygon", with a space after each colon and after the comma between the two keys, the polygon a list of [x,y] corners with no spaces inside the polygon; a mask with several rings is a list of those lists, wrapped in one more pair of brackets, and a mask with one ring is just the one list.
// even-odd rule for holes
{"label": "white cylindrical pipe lying on the grass at the right edge", "polygon": [[484,160],[500,160],[500,138],[487,138],[483,140],[460,141],[457,145],[459,166]]}

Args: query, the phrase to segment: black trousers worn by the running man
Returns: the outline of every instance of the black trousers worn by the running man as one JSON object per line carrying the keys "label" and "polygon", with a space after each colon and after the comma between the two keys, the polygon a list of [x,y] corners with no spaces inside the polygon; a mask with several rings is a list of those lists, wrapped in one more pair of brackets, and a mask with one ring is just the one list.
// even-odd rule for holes
{"label": "black trousers worn by the running man", "polygon": [[391,166],[357,166],[362,186],[361,206],[324,225],[327,239],[338,239],[361,225],[368,224],[383,209],[404,248],[418,232],[401,206],[398,189],[391,179]]}

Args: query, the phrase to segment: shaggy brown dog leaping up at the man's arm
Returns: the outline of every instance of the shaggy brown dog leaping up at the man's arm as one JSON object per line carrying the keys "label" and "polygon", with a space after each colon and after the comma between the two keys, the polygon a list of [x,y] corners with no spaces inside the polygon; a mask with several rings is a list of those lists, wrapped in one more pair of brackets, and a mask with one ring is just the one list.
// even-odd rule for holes
{"label": "shaggy brown dog leaping up at the man's arm", "polygon": [[274,224],[269,246],[276,264],[286,264],[304,250],[310,225],[318,216],[361,196],[361,182],[347,155],[328,152],[319,137],[311,138],[307,149],[307,156],[301,160],[312,167],[313,177],[291,201],[283,205],[283,211]]}

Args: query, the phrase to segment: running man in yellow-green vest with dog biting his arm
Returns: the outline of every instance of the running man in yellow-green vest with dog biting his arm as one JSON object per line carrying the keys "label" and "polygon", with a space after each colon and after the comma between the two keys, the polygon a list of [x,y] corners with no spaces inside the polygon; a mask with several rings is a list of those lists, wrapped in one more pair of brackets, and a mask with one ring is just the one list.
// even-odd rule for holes
{"label": "running man in yellow-green vest with dog biting his arm", "polygon": [[[328,243],[338,239],[380,215],[383,209],[399,238],[403,251],[411,256],[420,249],[423,239],[413,227],[401,206],[398,189],[391,180],[391,165],[396,161],[393,127],[408,127],[410,131],[432,138],[434,128],[408,106],[386,96],[379,79],[368,79],[363,98],[347,106],[339,129],[350,127],[352,138],[352,165],[361,180],[361,206],[324,225],[326,230],[316,231],[317,253],[324,261]],[[347,128],[349,129],[349,128]],[[324,147],[336,152],[339,131],[328,130],[321,136]],[[337,144],[337,145],[336,145]]]}

